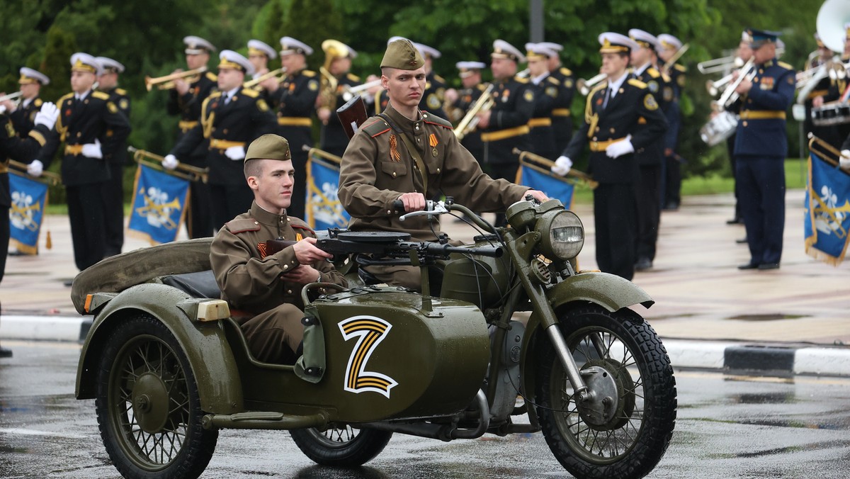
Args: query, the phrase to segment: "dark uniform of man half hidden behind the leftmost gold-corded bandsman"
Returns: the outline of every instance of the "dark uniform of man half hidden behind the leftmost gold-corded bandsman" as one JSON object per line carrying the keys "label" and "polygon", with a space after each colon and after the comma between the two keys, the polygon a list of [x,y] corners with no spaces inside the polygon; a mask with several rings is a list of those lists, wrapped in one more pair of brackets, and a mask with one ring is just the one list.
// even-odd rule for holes
{"label": "dark uniform of man half hidden behind the leftmost gold-corded bandsman", "polygon": [[[130,117],[130,98],[124,88],[103,90],[109,94],[110,101],[118,106],[127,119]],[[106,130],[106,136],[112,131]],[[121,254],[124,246],[124,165],[127,164],[127,142],[116,145],[107,166],[110,169],[110,180],[104,183],[104,212],[106,221],[106,256]]]}

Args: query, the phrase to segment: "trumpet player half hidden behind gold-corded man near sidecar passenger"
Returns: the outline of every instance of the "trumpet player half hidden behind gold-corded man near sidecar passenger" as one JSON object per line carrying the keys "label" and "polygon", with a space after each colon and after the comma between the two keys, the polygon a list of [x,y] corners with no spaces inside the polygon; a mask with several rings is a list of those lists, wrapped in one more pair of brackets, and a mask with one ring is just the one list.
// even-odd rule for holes
{"label": "trumpet player half hidden behind gold-corded man near sidecar passenger", "polygon": [[[210,54],[216,51],[215,46],[194,35],[184,37],[183,43],[186,45],[184,50],[186,66],[190,70],[207,68]],[[174,81],[174,88],[168,94],[166,107],[169,115],[180,117],[177,142],[190,129],[198,125],[201,118],[201,105],[212,93],[217,82],[218,78],[212,71],[204,71],[191,83],[184,80]],[[180,161],[197,168],[207,168],[207,145],[203,143],[197,145],[195,151],[180,158]],[[210,237],[215,233],[209,206],[211,201],[209,187],[201,181],[193,181],[190,185],[190,204],[186,217],[190,238]]]}

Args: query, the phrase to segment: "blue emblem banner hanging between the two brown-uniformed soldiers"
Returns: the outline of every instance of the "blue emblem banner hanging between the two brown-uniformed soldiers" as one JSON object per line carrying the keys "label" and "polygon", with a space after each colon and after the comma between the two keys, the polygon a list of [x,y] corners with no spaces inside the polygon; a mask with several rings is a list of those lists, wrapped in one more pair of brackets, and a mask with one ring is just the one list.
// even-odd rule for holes
{"label": "blue emblem banner hanging between the two brown-uniformed soldiers", "polygon": [[351,216],[339,202],[339,164],[311,154],[307,161],[307,208],[304,220],[315,231],[345,228]]}

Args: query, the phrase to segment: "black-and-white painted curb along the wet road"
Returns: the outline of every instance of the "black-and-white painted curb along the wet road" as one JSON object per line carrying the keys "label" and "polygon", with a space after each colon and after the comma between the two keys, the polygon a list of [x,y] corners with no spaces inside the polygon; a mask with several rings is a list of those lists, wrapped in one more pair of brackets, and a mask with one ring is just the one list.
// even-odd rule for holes
{"label": "black-and-white painted curb along the wet road", "polygon": [[[0,339],[82,342],[92,326],[85,316],[2,316]],[[673,368],[726,374],[850,377],[850,348],[761,345],[730,341],[663,339]]]}

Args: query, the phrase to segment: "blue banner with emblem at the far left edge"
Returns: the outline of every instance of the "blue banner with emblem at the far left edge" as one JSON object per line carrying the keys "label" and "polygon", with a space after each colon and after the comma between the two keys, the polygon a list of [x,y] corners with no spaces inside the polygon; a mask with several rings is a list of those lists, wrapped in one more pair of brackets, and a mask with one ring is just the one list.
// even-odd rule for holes
{"label": "blue banner with emblem at the far left edge", "polygon": [[31,180],[14,169],[9,170],[8,185],[12,196],[12,208],[8,212],[9,239],[20,253],[37,254],[44,209],[48,204],[48,185]]}

